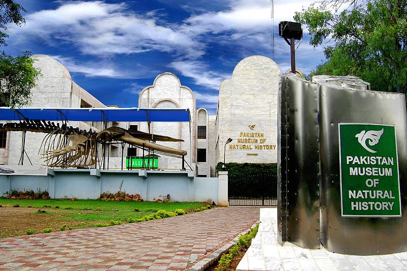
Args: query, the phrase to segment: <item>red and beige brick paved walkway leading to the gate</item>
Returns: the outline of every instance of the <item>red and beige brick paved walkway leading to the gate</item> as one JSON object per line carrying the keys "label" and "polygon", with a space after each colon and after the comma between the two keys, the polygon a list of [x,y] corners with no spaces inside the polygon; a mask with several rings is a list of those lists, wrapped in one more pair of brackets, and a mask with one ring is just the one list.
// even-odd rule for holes
{"label": "red and beige brick paved walkway leading to the gate", "polygon": [[2,239],[0,270],[182,270],[259,220],[258,207]]}

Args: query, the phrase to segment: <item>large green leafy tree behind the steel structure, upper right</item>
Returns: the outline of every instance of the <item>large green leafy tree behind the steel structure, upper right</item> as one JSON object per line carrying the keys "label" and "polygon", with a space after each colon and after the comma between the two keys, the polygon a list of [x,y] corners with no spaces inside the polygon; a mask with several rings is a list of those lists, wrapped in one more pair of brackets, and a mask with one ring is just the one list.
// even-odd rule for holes
{"label": "large green leafy tree behind the steel structure, upper right", "polygon": [[[348,5],[341,12],[341,5]],[[333,11],[332,11],[333,10]],[[372,90],[407,92],[407,2],[335,0],[311,5],[294,19],[308,27],[310,44],[324,48],[327,61],[311,75],[356,75]]]}

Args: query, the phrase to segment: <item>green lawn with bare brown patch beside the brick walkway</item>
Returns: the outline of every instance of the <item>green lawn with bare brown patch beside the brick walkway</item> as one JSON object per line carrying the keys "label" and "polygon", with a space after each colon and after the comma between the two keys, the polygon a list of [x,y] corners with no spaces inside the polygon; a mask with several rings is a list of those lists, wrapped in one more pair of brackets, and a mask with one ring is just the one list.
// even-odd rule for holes
{"label": "green lawn with bare brown patch beside the brick walkway", "polygon": [[[20,208],[12,207],[16,204],[19,204]],[[157,203],[90,199],[72,201],[70,199],[0,198],[0,205],[7,207],[7,209],[0,208],[0,214],[3,215],[3,219],[0,220],[0,238],[2,238],[25,235],[28,234],[27,232],[42,233],[49,229],[55,232],[132,223],[137,220],[144,221],[146,218],[149,218],[147,220],[157,219],[157,213],[175,212],[177,209],[202,210],[204,204],[203,202]],[[28,206],[31,208],[27,209]],[[2,209],[4,209],[3,212]],[[39,210],[45,211],[45,213],[38,212]],[[157,212],[158,210],[164,211]]]}

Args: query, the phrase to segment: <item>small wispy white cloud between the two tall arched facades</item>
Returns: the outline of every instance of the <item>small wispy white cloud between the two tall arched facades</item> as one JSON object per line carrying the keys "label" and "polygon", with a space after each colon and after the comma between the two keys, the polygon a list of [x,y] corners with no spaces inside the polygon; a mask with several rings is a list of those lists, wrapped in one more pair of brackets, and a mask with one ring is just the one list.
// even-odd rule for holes
{"label": "small wispy white cloud between the two tall arched facades", "polygon": [[210,71],[205,63],[191,59],[172,62],[170,67],[178,70],[183,76],[192,78],[195,84],[216,90],[219,89],[222,80],[230,77],[229,74]]}

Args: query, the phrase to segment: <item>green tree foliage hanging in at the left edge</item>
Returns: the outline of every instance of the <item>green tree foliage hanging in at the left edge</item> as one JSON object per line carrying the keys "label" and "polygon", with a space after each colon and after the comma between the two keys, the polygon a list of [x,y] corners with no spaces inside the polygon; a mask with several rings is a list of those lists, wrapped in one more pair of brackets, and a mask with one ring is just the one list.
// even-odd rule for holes
{"label": "green tree foliage hanging in at the left edge", "polygon": [[[26,10],[13,0],[0,0],[0,45],[7,46],[9,23],[18,26],[25,23],[21,12]],[[41,72],[33,66],[34,59],[30,55],[30,52],[24,52],[13,57],[0,51],[0,95],[7,106],[19,107],[31,103],[31,89],[35,87]]]}

